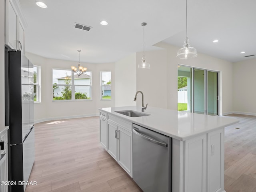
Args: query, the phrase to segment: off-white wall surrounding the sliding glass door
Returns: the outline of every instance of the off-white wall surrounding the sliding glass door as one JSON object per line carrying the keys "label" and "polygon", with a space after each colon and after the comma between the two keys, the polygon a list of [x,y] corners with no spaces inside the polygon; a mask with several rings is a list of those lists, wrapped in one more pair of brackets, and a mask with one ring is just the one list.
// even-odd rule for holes
{"label": "off-white wall surrounding the sliding glass door", "polygon": [[[137,90],[142,89],[144,100],[149,106],[177,110],[178,64],[220,71],[220,115],[233,111],[233,67],[232,62],[198,53],[198,57],[188,60],[176,58],[180,47],[160,42],[155,46],[165,48],[146,52],[150,70],[137,70]],[[137,53],[137,64],[142,52]],[[154,79],[154,81],[152,81]],[[152,93],[153,87],[156,94]]]}

